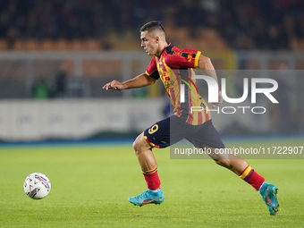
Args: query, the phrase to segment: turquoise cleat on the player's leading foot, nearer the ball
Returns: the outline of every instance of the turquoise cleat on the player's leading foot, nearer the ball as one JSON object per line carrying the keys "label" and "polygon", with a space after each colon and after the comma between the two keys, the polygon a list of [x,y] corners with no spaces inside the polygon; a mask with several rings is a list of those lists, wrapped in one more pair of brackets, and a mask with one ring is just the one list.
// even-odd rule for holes
{"label": "turquoise cleat on the player's leading foot, nearer the ball", "polygon": [[146,190],[137,197],[128,198],[129,202],[134,206],[144,206],[146,204],[161,204],[164,202],[164,194],[162,190],[153,192],[151,190]]}

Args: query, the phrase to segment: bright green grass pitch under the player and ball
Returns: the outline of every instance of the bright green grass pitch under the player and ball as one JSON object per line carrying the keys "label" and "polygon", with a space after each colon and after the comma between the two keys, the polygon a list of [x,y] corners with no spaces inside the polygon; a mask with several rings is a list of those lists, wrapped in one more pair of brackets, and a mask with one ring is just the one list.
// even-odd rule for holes
{"label": "bright green grass pitch under the player and ball", "polygon": [[[258,192],[212,160],[155,149],[165,201],[134,207],[127,198],[146,182],[131,144],[115,145],[1,147],[0,227],[304,227],[304,160],[248,160],[279,188],[270,216]],[[24,194],[34,172],[51,181],[44,199]]]}

